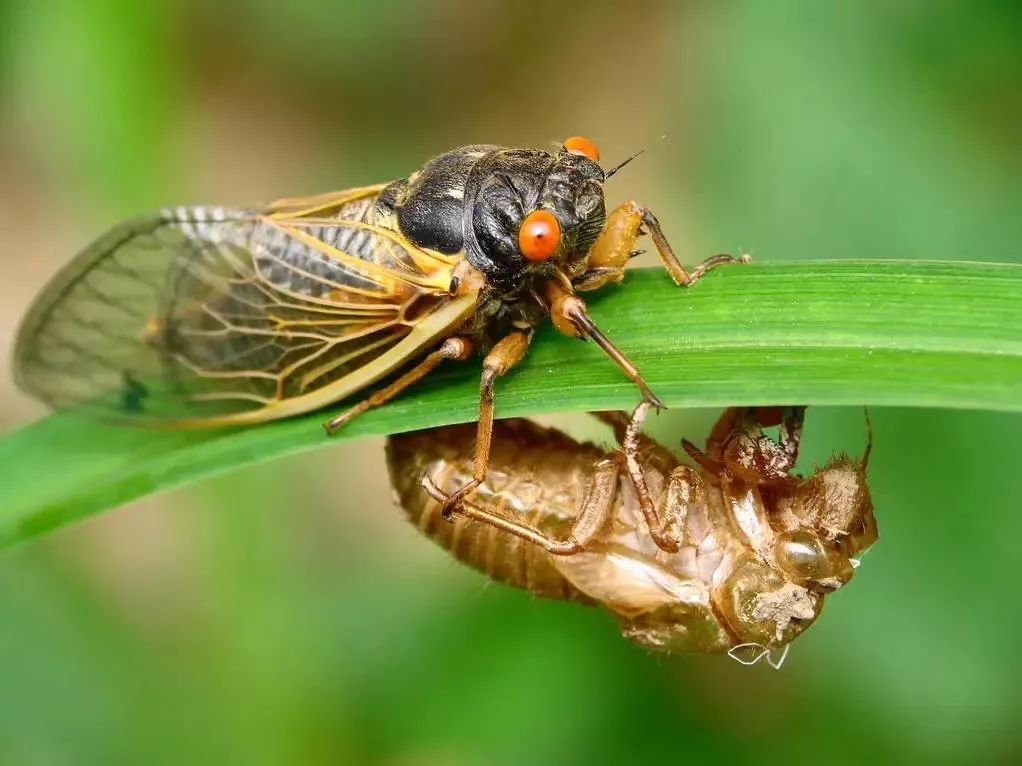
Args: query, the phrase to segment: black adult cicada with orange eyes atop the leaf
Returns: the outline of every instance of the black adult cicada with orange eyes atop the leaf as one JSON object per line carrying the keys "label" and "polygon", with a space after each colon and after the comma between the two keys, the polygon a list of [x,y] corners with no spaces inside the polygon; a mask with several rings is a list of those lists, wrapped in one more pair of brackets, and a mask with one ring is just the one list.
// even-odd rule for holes
{"label": "black adult cicada with orange eyes atop the leaf", "polygon": [[334,431],[445,360],[480,352],[479,481],[494,382],[547,316],[656,402],[575,294],[621,280],[641,227],[680,285],[733,260],[687,271],[648,209],[606,214],[616,170],[577,137],[555,152],[477,145],[390,184],[166,208],[114,228],[56,276],[21,326],[15,377],[53,405],[195,427],[309,412],[397,374],[329,421]]}

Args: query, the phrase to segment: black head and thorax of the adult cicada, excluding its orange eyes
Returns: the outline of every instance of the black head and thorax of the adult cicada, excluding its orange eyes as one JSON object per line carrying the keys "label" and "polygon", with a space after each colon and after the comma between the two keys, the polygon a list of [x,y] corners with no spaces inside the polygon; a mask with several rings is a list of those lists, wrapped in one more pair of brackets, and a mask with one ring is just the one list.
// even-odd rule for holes
{"label": "black head and thorax of the adult cicada, excluding its orange eyes", "polygon": [[[549,316],[547,282],[585,271],[606,218],[603,180],[586,156],[478,144],[389,184],[372,214],[417,246],[463,257],[476,270],[482,286],[469,333],[485,350]],[[553,214],[559,229],[555,253],[539,262],[519,242],[523,221],[537,210]]]}

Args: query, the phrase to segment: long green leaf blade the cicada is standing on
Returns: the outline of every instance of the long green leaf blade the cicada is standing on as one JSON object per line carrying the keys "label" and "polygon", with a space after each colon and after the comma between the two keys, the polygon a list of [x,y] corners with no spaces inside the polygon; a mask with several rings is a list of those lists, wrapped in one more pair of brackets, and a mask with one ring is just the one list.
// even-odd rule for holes
{"label": "long green leaf blade the cicada is standing on", "polygon": [[[1022,411],[1022,266],[752,264],[691,289],[637,270],[592,296],[600,327],[667,406],[873,404]],[[60,413],[0,439],[0,545],[135,497],[333,438],[474,418],[478,361],[438,372],[327,438],[326,414],[158,431]],[[590,343],[537,336],[498,383],[498,417],[629,409],[632,384]],[[339,409],[339,408],[338,408]]]}

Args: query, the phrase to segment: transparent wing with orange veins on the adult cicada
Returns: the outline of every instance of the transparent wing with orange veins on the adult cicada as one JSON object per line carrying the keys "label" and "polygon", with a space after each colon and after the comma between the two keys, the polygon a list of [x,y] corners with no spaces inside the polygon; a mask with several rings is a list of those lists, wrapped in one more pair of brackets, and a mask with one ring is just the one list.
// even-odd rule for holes
{"label": "transparent wing with orange veins on the adult cicada", "polygon": [[30,310],[18,384],[55,406],[199,425],[368,385],[417,323],[444,314],[454,262],[372,223],[380,188],[169,208],[113,229]]}

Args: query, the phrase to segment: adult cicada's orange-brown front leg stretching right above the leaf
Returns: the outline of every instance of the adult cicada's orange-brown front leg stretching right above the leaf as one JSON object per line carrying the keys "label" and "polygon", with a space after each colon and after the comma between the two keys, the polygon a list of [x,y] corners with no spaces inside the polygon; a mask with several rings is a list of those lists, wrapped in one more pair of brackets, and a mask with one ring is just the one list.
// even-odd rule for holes
{"label": "adult cicada's orange-brown front leg stretching right above the leaf", "polygon": [[[718,266],[734,262],[747,264],[752,259],[749,255],[742,255],[738,258],[726,254],[713,255],[692,271],[687,271],[675,254],[667,238],[663,236],[663,229],[653,211],[643,207],[638,202],[624,202],[607,217],[603,232],[590,250],[587,274],[579,278],[578,289],[596,289],[607,282],[620,280],[620,276],[616,274],[615,270],[624,269],[624,264],[635,252],[635,243],[642,233],[643,226],[646,227],[649,236],[653,239],[653,244],[656,245],[656,251],[660,255],[663,267],[677,285],[689,287],[698,282],[706,272]],[[591,272],[607,276],[594,280],[592,276],[587,277]]]}

